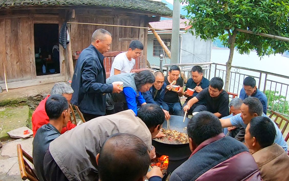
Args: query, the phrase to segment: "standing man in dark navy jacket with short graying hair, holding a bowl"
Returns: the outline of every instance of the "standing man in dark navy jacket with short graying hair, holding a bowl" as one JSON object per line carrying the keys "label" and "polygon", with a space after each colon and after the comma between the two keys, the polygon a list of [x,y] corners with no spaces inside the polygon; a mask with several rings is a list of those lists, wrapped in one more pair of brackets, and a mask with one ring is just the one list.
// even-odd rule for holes
{"label": "standing man in dark navy jacket with short graying hair, holding a bowl", "polygon": [[105,81],[102,54],[110,50],[111,42],[110,32],[95,30],[91,45],[81,52],[75,66],[71,103],[79,107],[86,121],[105,115],[105,93],[121,92],[117,84],[106,84]]}

